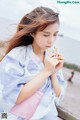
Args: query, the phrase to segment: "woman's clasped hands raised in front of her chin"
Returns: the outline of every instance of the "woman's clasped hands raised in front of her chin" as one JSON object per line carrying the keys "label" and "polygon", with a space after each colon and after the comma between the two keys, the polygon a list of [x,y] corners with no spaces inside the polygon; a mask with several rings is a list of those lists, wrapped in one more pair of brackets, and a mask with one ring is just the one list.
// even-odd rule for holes
{"label": "woman's clasped hands raised in front of her chin", "polygon": [[45,59],[45,70],[49,75],[55,74],[63,67],[64,58],[59,53],[52,53]]}

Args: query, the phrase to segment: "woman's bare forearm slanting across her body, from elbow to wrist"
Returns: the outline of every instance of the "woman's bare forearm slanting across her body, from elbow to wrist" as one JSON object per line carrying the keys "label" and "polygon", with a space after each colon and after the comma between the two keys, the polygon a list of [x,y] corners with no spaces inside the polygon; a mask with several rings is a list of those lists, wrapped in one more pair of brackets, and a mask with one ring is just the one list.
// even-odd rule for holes
{"label": "woman's bare forearm slanting across her body, from elbow to wrist", "polygon": [[21,103],[22,101],[30,97],[32,94],[34,94],[38,89],[40,89],[48,76],[49,73],[46,72],[46,70],[43,70],[41,73],[35,76],[35,78],[26,83],[17,98],[16,104]]}

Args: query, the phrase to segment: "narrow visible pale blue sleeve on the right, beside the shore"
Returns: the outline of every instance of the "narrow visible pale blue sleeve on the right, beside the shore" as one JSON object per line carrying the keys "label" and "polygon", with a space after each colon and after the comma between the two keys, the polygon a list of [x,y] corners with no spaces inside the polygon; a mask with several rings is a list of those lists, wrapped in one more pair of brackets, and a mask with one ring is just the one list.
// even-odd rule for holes
{"label": "narrow visible pale blue sleeve on the right, beside the shore", "polygon": [[59,70],[57,73],[57,79],[59,81],[59,84],[61,85],[61,94],[59,97],[56,97],[55,95],[55,103],[58,106],[60,104],[60,101],[64,99],[65,93],[66,93],[66,87],[67,82],[64,80],[62,70]]}

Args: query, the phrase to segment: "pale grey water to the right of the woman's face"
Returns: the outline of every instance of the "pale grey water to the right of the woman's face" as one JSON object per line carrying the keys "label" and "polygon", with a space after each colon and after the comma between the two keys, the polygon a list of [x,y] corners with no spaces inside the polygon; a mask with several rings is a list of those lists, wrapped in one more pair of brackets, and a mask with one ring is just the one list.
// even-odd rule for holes
{"label": "pale grey water to the right of the woman's face", "polygon": [[68,37],[59,37],[55,45],[64,55],[66,62],[80,66],[80,41]]}

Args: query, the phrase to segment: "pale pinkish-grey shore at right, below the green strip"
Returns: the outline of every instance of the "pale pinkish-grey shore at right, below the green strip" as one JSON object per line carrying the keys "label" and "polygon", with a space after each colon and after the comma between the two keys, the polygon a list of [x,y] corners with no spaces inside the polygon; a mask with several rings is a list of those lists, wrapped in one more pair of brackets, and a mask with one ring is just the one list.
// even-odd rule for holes
{"label": "pale pinkish-grey shore at right, below the green strip", "polygon": [[[70,76],[70,70],[67,68],[63,69],[64,78],[67,80]],[[74,78],[72,79],[73,83],[67,82],[67,91],[66,96],[61,103],[61,106],[64,107],[67,111],[72,114],[80,115],[80,73],[75,72]]]}

